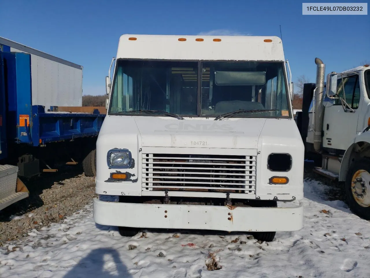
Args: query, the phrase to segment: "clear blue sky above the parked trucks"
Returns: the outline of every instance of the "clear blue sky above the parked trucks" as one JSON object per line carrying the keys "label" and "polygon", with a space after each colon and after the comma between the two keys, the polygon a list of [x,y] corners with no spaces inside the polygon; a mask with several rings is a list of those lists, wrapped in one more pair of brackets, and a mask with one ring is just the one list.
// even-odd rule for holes
{"label": "clear blue sky above the parked trucks", "polygon": [[[350,1],[346,1],[349,3]],[[370,16],[303,16],[301,1],[1,1],[0,36],[84,66],[84,95],[104,94],[121,34],[280,36],[293,81],[370,60]]]}

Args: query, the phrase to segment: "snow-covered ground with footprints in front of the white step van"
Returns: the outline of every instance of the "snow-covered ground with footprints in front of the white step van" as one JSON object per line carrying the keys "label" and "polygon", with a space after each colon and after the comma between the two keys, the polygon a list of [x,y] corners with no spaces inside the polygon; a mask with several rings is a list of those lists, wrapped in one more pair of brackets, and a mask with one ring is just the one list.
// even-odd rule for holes
{"label": "snow-covered ground with footprints in front of the white step van", "polygon": [[[341,201],[326,201],[326,190],[306,180],[304,228],[276,233],[268,244],[241,233],[194,231],[122,238],[115,227],[95,225],[91,204],[61,224],[2,246],[0,277],[368,278],[370,222]],[[212,257],[221,269],[207,270]]]}

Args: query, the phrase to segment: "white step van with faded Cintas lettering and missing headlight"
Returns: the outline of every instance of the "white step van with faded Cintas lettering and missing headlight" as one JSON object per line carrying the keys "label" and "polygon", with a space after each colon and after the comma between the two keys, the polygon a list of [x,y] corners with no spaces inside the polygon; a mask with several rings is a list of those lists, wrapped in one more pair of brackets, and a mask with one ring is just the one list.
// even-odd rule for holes
{"label": "white step van with faded Cintas lettering and missing headlight", "polygon": [[279,37],[123,35],[116,58],[96,223],[262,241],[302,228],[304,147]]}

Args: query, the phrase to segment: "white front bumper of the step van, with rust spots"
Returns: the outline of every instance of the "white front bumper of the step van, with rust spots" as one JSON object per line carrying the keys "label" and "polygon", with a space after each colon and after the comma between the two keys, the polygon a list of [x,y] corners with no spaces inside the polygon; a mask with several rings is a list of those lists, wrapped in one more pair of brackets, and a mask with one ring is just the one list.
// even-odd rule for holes
{"label": "white front bumper of the step van, with rust spots", "polygon": [[303,203],[289,208],[164,205],[105,202],[94,199],[94,221],[135,228],[216,231],[297,231],[303,227]]}

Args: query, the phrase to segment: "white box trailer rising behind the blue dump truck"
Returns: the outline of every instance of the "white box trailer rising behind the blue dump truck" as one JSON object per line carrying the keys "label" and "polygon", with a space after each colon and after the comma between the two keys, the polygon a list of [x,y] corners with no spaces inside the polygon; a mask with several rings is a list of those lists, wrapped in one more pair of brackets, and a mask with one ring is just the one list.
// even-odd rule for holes
{"label": "white box trailer rising behind the blue dump truck", "polygon": [[32,105],[82,106],[82,66],[3,37],[0,50],[31,54]]}

